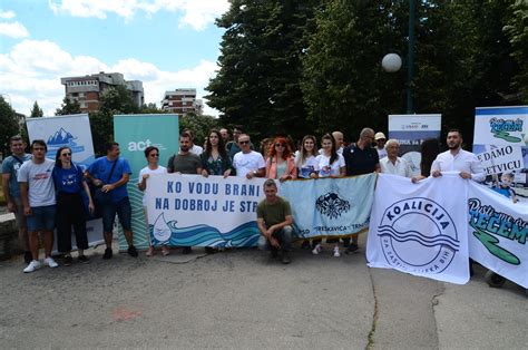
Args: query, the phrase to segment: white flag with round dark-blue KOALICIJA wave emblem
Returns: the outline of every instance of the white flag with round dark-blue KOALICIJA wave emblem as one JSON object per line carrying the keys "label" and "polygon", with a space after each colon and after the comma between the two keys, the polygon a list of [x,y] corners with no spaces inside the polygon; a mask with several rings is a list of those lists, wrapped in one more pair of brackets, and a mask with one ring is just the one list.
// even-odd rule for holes
{"label": "white flag with round dark-blue KOALICIJA wave emblem", "polygon": [[368,265],[467,283],[468,182],[456,173],[418,184],[380,174],[366,243]]}

